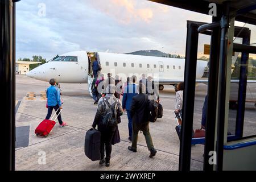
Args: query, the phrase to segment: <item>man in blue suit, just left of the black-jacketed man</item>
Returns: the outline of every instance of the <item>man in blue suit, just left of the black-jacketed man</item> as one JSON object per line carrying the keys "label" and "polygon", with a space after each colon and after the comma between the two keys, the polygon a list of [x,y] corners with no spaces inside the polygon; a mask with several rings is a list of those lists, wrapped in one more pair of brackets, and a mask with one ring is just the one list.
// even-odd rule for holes
{"label": "man in blue suit, just left of the black-jacketed man", "polygon": [[133,133],[132,129],[132,121],[131,113],[130,113],[130,107],[131,107],[131,101],[133,100],[134,96],[138,95],[137,92],[137,85],[135,84],[137,77],[132,76],[131,80],[133,81],[133,84],[129,84],[125,87],[124,93],[123,93],[123,100],[122,100],[122,106],[123,111],[127,111],[127,117],[128,117],[128,129],[129,129],[129,140],[131,141],[131,135]]}

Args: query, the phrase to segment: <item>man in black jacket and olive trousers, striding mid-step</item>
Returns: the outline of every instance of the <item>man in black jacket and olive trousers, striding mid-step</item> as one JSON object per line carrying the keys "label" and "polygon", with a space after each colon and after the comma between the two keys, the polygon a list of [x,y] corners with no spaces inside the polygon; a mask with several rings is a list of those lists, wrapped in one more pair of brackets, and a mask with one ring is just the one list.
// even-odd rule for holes
{"label": "man in black jacket and olive trousers, striding mid-step", "polygon": [[148,96],[144,94],[146,88],[142,83],[139,83],[139,94],[133,97],[131,102],[131,118],[133,118],[133,139],[131,146],[128,147],[128,150],[137,152],[137,140],[139,130],[143,132],[143,135],[146,139],[147,148],[150,151],[150,158],[155,156],[156,150],[152,142],[152,138],[149,130],[149,111],[148,107]]}

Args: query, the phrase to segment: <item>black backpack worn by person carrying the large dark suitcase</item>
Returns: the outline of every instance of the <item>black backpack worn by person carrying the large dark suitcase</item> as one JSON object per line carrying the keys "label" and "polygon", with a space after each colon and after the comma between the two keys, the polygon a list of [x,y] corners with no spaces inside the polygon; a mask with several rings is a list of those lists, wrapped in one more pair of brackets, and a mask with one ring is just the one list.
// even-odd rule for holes
{"label": "black backpack worn by person carrying the large dark suitcase", "polygon": [[115,100],[114,104],[112,104],[110,106],[108,100],[106,100],[103,97],[103,102],[108,105],[109,109],[107,111],[107,113],[105,114],[105,116],[102,119],[102,126],[103,127],[115,127],[117,126],[117,100]]}

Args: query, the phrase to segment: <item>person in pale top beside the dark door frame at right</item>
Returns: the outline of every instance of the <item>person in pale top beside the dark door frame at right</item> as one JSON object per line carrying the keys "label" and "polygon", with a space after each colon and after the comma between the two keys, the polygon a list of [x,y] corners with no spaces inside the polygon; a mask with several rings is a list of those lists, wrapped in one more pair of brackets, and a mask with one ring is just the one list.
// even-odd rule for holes
{"label": "person in pale top beside the dark door frame at right", "polygon": [[184,82],[180,82],[179,85],[177,85],[176,103],[175,103],[175,114],[178,119],[179,127],[181,127],[181,120],[182,120],[183,89],[184,89]]}

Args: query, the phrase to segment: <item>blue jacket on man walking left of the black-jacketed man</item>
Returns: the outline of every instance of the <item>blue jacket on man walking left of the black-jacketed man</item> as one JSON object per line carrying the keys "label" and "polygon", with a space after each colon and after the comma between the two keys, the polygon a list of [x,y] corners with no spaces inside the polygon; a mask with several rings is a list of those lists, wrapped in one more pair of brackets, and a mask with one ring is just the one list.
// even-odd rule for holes
{"label": "blue jacket on man walking left of the black-jacketed man", "polygon": [[137,95],[138,95],[137,85],[136,84],[127,85],[123,93],[123,101],[122,101],[123,109],[130,110],[131,101],[133,100],[133,97]]}

